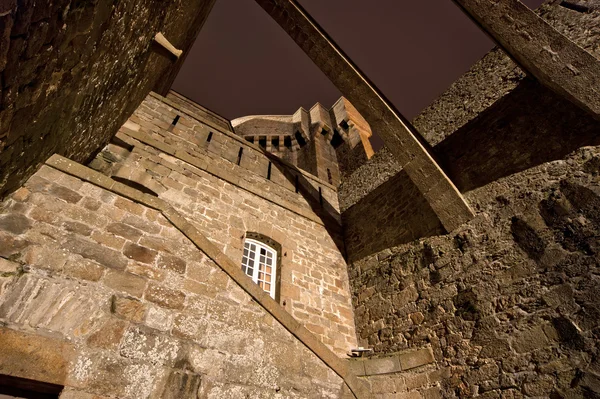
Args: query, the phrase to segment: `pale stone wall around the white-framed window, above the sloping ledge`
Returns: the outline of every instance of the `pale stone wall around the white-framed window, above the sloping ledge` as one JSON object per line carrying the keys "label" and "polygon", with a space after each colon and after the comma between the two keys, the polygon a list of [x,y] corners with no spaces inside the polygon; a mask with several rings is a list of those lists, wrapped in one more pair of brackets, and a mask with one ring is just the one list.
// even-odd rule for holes
{"label": "pale stone wall around the white-framed window, above the sloping ledge", "polygon": [[[171,127],[178,113],[164,99],[149,96],[117,135],[134,147],[109,144],[90,166],[153,190],[240,265],[248,232],[278,242],[280,304],[334,352],[345,355],[356,338],[341,227],[328,213],[337,213],[335,190],[297,172],[299,184],[307,188],[296,193],[275,166],[269,180],[268,158],[255,146],[188,114]],[[240,146],[244,151],[237,165]],[[318,201],[319,188],[324,206]]]}

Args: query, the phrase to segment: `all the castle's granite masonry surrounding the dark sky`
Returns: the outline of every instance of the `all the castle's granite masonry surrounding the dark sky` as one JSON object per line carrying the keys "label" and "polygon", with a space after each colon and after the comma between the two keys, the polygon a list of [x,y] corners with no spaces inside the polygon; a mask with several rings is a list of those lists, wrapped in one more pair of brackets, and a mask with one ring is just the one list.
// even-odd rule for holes
{"label": "all the castle's granite masonry surrounding the dark sky", "polygon": [[456,2],[502,48],[413,123],[294,1],[344,97],[233,121],[212,1],[0,2],[0,396],[600,397],[600,8]]}

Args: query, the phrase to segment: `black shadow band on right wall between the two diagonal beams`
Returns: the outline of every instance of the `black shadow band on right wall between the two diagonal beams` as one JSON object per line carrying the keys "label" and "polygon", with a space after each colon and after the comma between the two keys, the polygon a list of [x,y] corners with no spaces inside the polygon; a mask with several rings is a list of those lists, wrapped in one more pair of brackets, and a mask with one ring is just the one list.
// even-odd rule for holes
{"label": "black shadow band on right wall between the two diagonal beams", "polygon": [[600,122],[537,81],[510,94],[435,147],[462,192],[600,145]]}

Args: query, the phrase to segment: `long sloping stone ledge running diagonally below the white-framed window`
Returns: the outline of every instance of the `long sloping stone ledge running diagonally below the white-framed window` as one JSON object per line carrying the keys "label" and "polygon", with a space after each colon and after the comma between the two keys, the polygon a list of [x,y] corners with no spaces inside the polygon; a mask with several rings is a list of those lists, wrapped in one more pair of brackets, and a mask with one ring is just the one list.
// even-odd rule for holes
{"label": "long sloping stone ledge running diagonally below the white-framed window", "polygon": [[[363,381],[350,371],[348,363],[327,348],[314,334],[294,319],[281,305],[248,279],[242,269],[221,252],[210,240],[200,233],[185,217],[165,201],[144,194],[124,184],[117,183],[100,172],[87,168],[60,155],[53,155],[46,164],[64,173],[94,184],[115,194],[125,196],[143,205],[161,211],[171,224],[230,276],[263,309],[271,314],[286,330],[302,342],[321,361],[340,376],[357,399],[371,398],[372,395]],[[136,191],[132,193],[131,191]]]}

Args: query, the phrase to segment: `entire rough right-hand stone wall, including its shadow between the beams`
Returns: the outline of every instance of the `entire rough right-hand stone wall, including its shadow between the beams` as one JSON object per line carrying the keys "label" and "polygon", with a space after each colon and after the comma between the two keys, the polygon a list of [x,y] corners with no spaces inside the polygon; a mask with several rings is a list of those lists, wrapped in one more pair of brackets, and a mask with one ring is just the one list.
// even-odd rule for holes
{"label": "entire rough right-hand stone wall, including its shadow between the beams", "polygon": [[[598,55],[600,13],[556,3],[538,12]],[[359,343],[376,357],[431,345],[443,397],[600,395],[597,122],[494,50],[415,125],[477,216],[350,265]],[[359,193],[383,187],[385,165],[357,170]]]}

